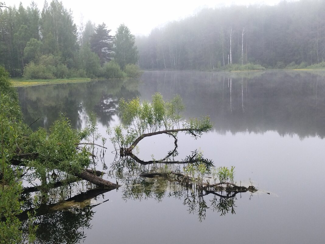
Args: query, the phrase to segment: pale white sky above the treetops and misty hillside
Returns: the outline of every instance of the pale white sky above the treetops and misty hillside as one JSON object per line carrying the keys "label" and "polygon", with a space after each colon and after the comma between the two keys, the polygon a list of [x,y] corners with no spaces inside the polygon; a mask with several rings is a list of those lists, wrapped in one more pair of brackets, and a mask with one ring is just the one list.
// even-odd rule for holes
{"label": "pale white sky above the treetops and misty hillside", "polygon": [[[4,0],[7,6],[19,6],[22,2],[26,8],[32,1],[30,0]],[[34,0],[38,8],[42,10],[44,0]],[[51,0],[48,0],[51,2]],[[171,20],[180,20],[189,15],[193,15],[205,7],[221,7],[232,4],[249,5],[249,4],[267,4],[274,5],[280,0],[139,0],[139,1],[84,1],[84,0],[64,0],[63,6],[73,11],[73,18],[76,25],[80,25],[81,20],[87,22],[92,20],[97,24],[105,22],[110,34],[115,34],[117,27],[124,23],[127,25],[132,34],[148,35],[150,31],[162,26]]]}

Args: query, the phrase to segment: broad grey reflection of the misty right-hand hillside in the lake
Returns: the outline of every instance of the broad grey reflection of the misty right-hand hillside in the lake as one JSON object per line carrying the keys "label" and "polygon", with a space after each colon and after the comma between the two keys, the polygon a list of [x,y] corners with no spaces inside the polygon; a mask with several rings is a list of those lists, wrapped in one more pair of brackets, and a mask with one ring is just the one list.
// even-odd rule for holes
{"label": "broad grey reflection of the misty right-hand hillside in the lake", "polygon": [[210,115],[224,134],[277,131],[324,137],[325,72],[266,71],[241,73],[146,72],[143,99],[159,91],[166,99],[179,94],[187,117]]}

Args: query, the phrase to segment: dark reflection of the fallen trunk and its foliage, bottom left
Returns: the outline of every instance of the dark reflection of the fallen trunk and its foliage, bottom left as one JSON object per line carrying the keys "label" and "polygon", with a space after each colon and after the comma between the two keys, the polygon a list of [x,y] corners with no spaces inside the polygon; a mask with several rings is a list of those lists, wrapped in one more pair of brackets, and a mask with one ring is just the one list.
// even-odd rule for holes
{"label": "dark reflection of the fallen trunk and its foliage, bottom left", "polygon": [[19,215],[23,233],[29,233],[29,212],[35,213],[38,225],[35,243],[79,243],[85,239],[85,228],[90,228],[94,215],[90,200],[108,192],[108,189],[91,189],[57,204],[42,204],[33,209],[30,198],[25,201],[28,209]]}

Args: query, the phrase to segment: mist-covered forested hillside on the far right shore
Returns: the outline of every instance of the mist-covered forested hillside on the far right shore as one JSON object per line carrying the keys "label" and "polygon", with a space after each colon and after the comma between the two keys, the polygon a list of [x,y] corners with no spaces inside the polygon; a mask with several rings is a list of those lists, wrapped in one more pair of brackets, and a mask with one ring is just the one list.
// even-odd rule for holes
{"label": "mist-covered forested hillside on the far right shore", "polygon": [[137,37],[143,69],[303,68],[325,59],[325,1],[203,9]]}

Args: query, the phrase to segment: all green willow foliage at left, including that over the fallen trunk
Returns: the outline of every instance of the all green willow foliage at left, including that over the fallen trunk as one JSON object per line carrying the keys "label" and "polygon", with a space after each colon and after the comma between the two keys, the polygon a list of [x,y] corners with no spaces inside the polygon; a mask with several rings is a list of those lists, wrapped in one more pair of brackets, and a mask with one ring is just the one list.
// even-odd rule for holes
{"label": "all green willow foliage at left, including that over the fallen trunk", "polygon": [[[24,180],[41,181],[49,187],[54,181],[65,181],[68,175],[78,173],[91,163],[89,148],[79,145],[88,137],[96,139],[96,126],[76,131],[70,121],[61,115],[49,131],[32,132],[22,123],[18,95],[12,88],[8,73],[0,67],[0,243],[26,243],[35,239],[34,217],[28,213],[24,236],[18,215],[22,212],[22,171],[11,166],[13,160],[30,167]],[[23,156],[22,156],[23,155]],[[46,192],[44,192],[46,195]]]}

